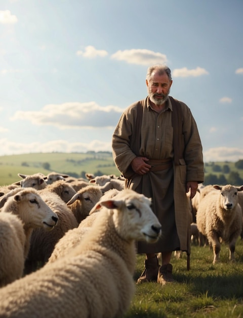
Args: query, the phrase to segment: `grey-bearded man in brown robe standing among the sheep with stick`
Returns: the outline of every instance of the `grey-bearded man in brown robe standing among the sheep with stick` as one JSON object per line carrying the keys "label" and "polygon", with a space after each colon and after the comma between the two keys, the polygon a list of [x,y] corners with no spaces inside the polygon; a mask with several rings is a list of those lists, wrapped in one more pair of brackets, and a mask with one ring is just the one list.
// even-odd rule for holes
{"label": "grey-bearded man in brown robe standing among the sheep with stick", "polygon": [[[196,122],[188,106],[169,97],[171,70],[148,68],[148,97],[129,106],[112,137],[116,167],[126,185],[152,198],[152,209],[162,225],[155,244],[138,242],[145,253],[145,269],[138,283],[174,281],[172,251],[190,251],[190,221],[186,193],[193,198],[204,181],[203,149]],[[161,252],[161,266],[156,253]]]}

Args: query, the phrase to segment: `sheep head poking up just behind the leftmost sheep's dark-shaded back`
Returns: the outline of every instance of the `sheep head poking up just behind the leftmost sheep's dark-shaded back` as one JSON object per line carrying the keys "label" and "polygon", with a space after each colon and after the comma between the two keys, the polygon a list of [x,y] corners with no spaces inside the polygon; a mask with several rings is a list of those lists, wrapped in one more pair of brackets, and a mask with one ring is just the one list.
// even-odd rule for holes
{"label": "sheep head poking up just behind the leftmost sheep's dark-shaded back", "polygon": [[64,180],[57,180],[48,184],[44,189],[39,190],[39,193],[42,194],[46,191],[56,193],[65,203],[67,203],[76,194],[72,185]]}

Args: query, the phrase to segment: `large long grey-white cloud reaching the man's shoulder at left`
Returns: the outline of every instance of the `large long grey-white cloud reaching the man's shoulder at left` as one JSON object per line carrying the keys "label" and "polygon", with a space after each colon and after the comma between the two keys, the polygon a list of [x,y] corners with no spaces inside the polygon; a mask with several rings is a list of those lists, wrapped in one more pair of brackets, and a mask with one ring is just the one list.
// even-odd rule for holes
{"label": "large long grey-white cloud reaching the man's shoulder at left", "polygon": [[29,120],[36,125],[54,125],[59,129],[98,128],[116,125],[123,109],[101,107],[95,102],[49,104],[41,111],[17,111],[11,120]]}

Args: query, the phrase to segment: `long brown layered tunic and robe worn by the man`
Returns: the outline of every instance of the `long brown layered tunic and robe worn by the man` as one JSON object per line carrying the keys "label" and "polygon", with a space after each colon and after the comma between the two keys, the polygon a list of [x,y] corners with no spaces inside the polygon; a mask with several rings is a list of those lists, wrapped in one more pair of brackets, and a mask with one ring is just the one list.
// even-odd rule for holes
{"label": "long brown layered tunic and robe worn by the man", "polygon": [[[183,158],[179,166],[149,171],[145,175],[131,174],[131,162],[136,156],[150,160],[174,159],[173,107],[170,99],[164,111],[157,113],[150,107],[147,97],[141,123],[139,153],[131,148],[131,136],[135,134],[137,105],[130,105],[121,115],[112,137],[112,152],[118,170],[128,178],[127,186],[152,198],[152,209],[162,226],[162,236],[155,244],[139,242],[138,252],[153,253],[176,249],[189,252],[189,208],[186,198],[186,182],[204,181],[203,149],[196,122],[188,106],[182,109]],[[143,102],[144,102],[143,101]]]}

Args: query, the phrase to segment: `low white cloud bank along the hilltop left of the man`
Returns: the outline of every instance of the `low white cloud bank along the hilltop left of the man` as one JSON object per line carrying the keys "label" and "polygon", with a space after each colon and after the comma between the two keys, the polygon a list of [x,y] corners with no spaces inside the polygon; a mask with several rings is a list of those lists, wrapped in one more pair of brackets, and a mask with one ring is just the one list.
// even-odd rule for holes
{"label": "low white cloud bank along the hilltop left of the man", "polygon": [[17,143],[7,139],[0,139],[0,155],[12,155],[21,153],[38,152],[87,152],[87,151],[111,151],[111,142],[93,140],[89,143],[73,142],[66,140],[52,140],[46,143]]}

